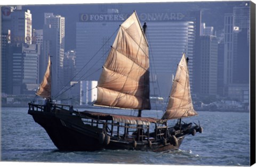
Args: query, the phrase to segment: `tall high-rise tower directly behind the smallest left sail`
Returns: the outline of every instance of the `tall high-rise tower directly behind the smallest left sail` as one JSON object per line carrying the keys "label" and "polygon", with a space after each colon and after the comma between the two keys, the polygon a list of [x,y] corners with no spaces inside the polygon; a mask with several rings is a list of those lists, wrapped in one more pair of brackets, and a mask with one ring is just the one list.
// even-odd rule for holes
{"label": "tall high-rise tower directly behind the smallest left sail", "polygon": [[65,51],[65,18],[52,13],[45,14],[43,28],[43,56],[40,60],[40,77],[43,78],[48,55],[52,61],[52,96],[63,87],[63,59]]}

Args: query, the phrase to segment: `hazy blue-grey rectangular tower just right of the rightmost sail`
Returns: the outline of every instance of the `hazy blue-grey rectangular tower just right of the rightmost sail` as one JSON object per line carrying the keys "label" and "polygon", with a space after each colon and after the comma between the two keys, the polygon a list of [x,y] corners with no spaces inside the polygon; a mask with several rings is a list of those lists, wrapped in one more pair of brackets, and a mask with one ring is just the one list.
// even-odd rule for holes
{"label": "hazy blue-grey rectangular tower just right of the rightmost sail", "polygon": [[201,36],[200,94],[217,95],[218,39],[216,36]]}

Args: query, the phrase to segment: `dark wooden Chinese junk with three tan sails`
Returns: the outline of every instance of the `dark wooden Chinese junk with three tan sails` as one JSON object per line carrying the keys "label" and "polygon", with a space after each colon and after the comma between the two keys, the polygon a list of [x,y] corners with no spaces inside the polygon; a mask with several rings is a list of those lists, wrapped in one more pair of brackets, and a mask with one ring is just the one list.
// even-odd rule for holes
{"label": "dark wooden Chinese junk with three tan sails", "polygon": [[[103,66],[97,86],[98,98],[94,103],[97,106],[138,110],[138,116],[74,111],[73,106],[53,103],[49,56],[44,79],[36,93],[46,99],[46,104],[29,103],[28,114],[46,130],[58,149],[162,152],[179,149],[185,136],[202,132],[199,124],[181,121],[182,118],[197,115],[191,101],[185,54],[178,64],[169,103],[162,118],[141,117],[142,110],[150,110],[149,53],[144,33],[135,12],[121,24]],[[100,107],[97,108],[100,110]],[[177,119],[173,127],[167,124],[171,119]]]}

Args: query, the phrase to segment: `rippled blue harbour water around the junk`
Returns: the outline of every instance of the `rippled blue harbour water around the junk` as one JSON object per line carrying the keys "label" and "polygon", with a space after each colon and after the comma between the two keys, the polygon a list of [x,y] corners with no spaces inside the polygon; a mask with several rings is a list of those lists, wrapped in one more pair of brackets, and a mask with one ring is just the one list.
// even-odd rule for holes
{"label": "rippled blue harbour water around the junk", "polygon": [[[106,110],[108,111],[108,110]],[[168,165],[250,165],[249,113],[198,112],[184,121],[198,122],[203,133],[187,136],[178,151],[60,152],[27,108],[3,107],[1,112],[1,161],[75,162]],[[145,114],[145,113],[144,113]],[[146,115],[153,114],[149,112]],[[160,116],[162,112],[158,112]],[[145,115],[145,116],[146,116]]]}

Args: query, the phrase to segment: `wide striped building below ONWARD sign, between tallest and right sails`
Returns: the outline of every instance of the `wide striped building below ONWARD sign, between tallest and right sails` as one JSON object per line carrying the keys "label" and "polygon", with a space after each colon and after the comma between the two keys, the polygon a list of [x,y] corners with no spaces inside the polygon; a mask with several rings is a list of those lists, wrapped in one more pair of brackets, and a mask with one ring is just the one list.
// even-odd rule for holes
{"label": "wide striped building below ONWARD sign, between tallest and right sails", "polygon": [[[194,22],[147,22],[147,25],[151,71],[156,74],[157,80],[161,81],[158,82],[159,94],[164,97],[169,95],[169,91],[166,90],[171,90],[172,75],[176,73],[177,64],[183,53],[189,57],[189,79],[192,89],[195,54]],[[153,85],[151,91],[156,86]]]}

